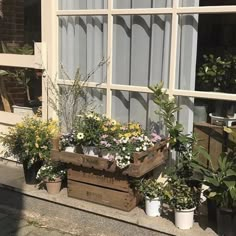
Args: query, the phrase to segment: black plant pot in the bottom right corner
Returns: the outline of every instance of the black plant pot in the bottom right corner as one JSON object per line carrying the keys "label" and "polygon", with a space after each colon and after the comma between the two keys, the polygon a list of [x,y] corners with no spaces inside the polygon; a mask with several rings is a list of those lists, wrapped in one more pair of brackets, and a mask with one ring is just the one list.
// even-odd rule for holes
{"label": "black plant pot in the bottom right corner", "polygon": [[217,208],[217,231],[219,236],[236,235],[236,209]]}

